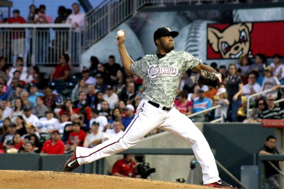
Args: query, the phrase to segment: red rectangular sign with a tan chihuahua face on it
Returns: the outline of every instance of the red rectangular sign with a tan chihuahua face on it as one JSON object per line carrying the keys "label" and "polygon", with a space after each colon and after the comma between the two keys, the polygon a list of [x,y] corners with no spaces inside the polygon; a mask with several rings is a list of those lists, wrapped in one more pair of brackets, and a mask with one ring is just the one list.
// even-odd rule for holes
{"label": "red rectangular sign with a tan chihuahua face on it", "polygon": [[207,59],[284,56],[284,21],[207,24]]}

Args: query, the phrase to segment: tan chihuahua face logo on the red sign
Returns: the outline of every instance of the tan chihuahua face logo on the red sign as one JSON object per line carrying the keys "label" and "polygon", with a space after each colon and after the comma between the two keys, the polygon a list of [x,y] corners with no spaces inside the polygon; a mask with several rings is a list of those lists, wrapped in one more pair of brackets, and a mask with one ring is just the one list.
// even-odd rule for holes
{"label": "tan chihuahua face logo on the red sign", "polygon": [[223,31],[208,27],[208,43],[222,58],[239,58],[249,55],[252,23],[238,23],[225,28]]}

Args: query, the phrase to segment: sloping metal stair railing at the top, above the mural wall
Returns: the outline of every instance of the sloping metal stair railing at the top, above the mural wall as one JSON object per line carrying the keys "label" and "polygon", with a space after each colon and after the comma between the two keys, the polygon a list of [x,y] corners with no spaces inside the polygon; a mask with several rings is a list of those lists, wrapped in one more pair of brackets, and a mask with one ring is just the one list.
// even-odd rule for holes
{"label": "sloping metal stair railing at the top, above the mural wall", "polygon": [[84,49],[88,49],[143,6],[238,2],[239,0],[104,0],[85,16]]}

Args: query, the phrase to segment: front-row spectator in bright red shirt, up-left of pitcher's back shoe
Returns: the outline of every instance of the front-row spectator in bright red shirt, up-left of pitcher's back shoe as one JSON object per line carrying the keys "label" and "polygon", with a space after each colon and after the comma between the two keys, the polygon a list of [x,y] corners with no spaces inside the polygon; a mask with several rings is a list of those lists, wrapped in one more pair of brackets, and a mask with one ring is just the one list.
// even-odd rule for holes
{"label": "front-row spectator in bright red shirt, up-left of pitcher's back shoe", "polygon": [[64,142],[60,140],[59,131],[54,130],[51,133],[51,139],[44,142],[40,153],[64,154]]}

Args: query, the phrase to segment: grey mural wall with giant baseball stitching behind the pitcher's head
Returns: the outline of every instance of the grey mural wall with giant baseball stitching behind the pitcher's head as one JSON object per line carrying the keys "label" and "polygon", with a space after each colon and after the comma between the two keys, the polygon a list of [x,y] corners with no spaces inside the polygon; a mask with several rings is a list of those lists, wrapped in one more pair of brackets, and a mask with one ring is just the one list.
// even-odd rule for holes
{"label": "grey mural wall with giant baseball stitching behind the pitcher's head", "polygon": [[[237,63],[238,59],[207,59],[207,24],[282,20],[284,20],[283,7],[139,12],[86,50],[82,54],[82,66],[89,66],[88,61],[91,56],[97,56],[101,62],[105,63],[111,54],[117,57],[118,63],[121,63],[115,38],[119,29],[125,29],[127,32],[126,47],[133,60],[136,61],[145,54],[153,54],[156,51],[153,32],[156,28],[164,26],[180,32],[180,35],[175,38],[176,51],[190,52],[207,64],[211,62],[216,62],[219,65]],[[274,28],[271,29],[274,30]],[[260,53],[266,54],[266,52]],[[270,61],[271,58],[268,62]]]}

